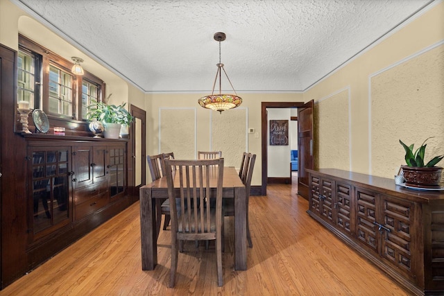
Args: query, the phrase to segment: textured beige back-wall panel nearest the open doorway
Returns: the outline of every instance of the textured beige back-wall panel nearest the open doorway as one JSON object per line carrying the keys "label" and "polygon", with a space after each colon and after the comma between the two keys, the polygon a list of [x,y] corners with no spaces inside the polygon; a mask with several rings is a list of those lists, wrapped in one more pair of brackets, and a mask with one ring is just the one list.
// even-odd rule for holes
{"label": "textured beige back-wall panel nearest the open doorway", "polygon": [[248,109],[240,108],[219,114],[211,112],[211,150],[222,151],[225,166],[239,168],[247,147]]}

